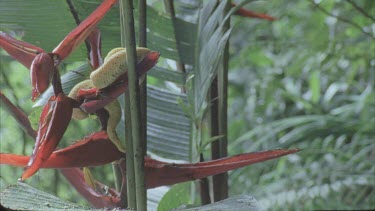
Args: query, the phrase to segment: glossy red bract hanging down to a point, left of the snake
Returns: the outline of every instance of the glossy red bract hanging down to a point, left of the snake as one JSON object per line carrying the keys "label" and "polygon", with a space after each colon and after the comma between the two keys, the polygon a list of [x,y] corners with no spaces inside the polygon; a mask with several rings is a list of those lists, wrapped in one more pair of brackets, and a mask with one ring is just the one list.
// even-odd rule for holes
{"label": "glossy red bract hanging down to a point, left of the snake", "polygon": [[21,180],[31,177],[56,149],[70,122],[75,101],[63,93],[50,98],[44,106],[39,129],[30,160],[21,176]]}

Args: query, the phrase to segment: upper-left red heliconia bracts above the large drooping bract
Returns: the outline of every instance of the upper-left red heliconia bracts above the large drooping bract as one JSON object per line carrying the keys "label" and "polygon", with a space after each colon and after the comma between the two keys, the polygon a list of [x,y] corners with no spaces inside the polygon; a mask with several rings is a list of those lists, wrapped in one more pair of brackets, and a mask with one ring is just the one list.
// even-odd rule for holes
{"label": "upper-left red heliconia bracts above the large drooping bract", "polygon": [[[68,57],[90,34],[92,35],[89,37],[89,43],[98,43],[100,34],[96,31],[96,25],[116,2],[117,0],[104,0],[95,11],[61,41],[52,53],[46,53],[37,46],[16,40],[0,31],[0,47],[31,71],[33,101],[48,88],[51,77],[56,71],[55,66]],[[91,45],[93,51],[96,51],[92,51],[92,53],[95,54],[93,56],[97,56],[96,58],[100,58],[96,55],[100,46],[97,48],[96,45]],[[101,62],[100,60],[92,61],[94,62],[93,66],[100,65]]]}

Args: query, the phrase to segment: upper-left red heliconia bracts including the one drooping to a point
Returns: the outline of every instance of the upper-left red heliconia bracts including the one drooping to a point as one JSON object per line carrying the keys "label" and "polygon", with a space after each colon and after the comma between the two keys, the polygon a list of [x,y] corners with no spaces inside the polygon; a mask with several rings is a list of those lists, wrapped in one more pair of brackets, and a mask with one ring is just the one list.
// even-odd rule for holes
{"label": "upper-left red heliconia bracts including the one drooping to a point", "polygon": [[49,158],[70,122],[73,107],[78,106],[75,100],[64,95],[56,65],[86,38],[91,46],[92,57],[96,58],[92,59],[92,66],[96,68],[102,63],[100,32],[96,29],[96,25],[116,2],[117,0],[104,0],[93,13],[64,38],[52,53],[46,53],[37,46],[0,32],[0,47],[30,69],[33,86],[32,100],[48,88],[51,79],[55,92],[55,96],[48,101],[42,111],[34,150],[21,179],[32,176]]}

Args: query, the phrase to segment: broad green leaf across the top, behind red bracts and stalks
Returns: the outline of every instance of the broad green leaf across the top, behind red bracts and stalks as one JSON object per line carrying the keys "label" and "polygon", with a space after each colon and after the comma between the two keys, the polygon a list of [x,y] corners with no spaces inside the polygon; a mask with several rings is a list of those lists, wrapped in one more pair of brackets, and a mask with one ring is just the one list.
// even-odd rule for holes
{"label": "broad green leaf across the top, behind red bracts and stalks", "polygon": [[[84,20],[100,4],[99,0],[73,1],[80,20]],[[77,25],[65,0],[4,0],[0,2],[1,28],[16,32],[23,40],[51,52]],[[148,7],[148,47],[159,51],[163,57],[179,61],[171,19]],[[41,15],[43,14],[43,15]],[[194,63],[196,25],[178,19],[176,35],[180,40],[181,60]],[[118,6],[115,5],[98,25],[102,32],[103,56],[120,46]],[[82,44],[67,61],[83,61],[87,50]]]}

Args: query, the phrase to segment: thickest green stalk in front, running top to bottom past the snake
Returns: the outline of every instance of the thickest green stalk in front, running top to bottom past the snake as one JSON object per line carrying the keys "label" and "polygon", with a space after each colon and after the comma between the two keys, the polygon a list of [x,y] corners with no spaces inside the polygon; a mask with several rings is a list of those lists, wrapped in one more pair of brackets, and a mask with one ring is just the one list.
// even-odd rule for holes
{"label": "thickest green stalk in front, running top to bottom past the snake", "polygon": [[[147,209],[147,192],[145,186],[144,155],[141,135],[141,114],[138,76],[136,72],[137,54],[135,43],[133,1],[122,0],[121,7],[124,12],[125,46],[127,51],[129,98],[131,113],[131,131],[134,150],[134,175],[136,186],[136,209],[143,211]],[[129,149],[128,149],[129,150]]]}

